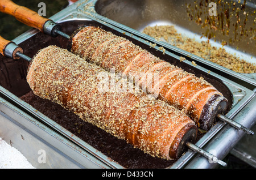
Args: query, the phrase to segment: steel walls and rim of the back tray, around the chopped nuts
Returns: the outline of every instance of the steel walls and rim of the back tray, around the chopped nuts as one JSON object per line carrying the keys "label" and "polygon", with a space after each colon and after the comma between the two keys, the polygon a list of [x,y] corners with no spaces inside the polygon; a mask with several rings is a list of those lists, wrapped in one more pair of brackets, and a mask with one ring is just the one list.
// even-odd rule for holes
{"label": "steel walls and rim of the back tray, around the chopped nuts", "polygon": [[[225,1],[217,4],[217,15],[222,15],[224,17],[219,17],[220,20],[216,20],[216,23],[224,23],[225,25],[226,22],[229,22],[230,24],[228,28],[222,27],[217,30],[213,30],[213,28],[210,28],[209,24],[205,24],[204,22],[201,24],[197,23],[196,17],[200,17],[203,20],[209,17],[208,10],[211,6],[205,7],[204,1],[94,0],[90,1],[90,7],[80,7],[80,9],[90,12],[98,19],[104,20],[125,31],[129,31],[134,35],[150,40],[159,46],[163,46],[170,52],[183,56],[189,61],[195,61],[212,71],[221,72],[228,78],[235,81],[236,79],[241,80],[245,84],[249,83],[256,85],[256,73],[243,74],[229,70],[208,59],[201,58],[198,55],[176,48],[165,41],[156,40],[155,38],[142,33],[142,30],[147,26],[174,25],[177,31],[181,33],[181,36],[184,35],[185,37],[195,38],[200,41],[207,41],[207,38],[202,38],[203,35],[212,34],[212,36],[215,36],[214,40],[210,41],[210,44],[213,46],[224,48],[226,52],[233,55],[236,54],[236,57],[241,57],[247,62],[256,63],[256,6],[255,2],[246,1],[244,10],[241,10],[240,12],[233,10],[233,8],[240,9],[243,2],[245,1]],[[200,3],[203,5],[200,6]],[[223,3],[226,7],[222,5]],[[197,10],[195,10],[196,6]],[[229,10],[229,18],[225,17],[224,11],[226,10]],[[243,12],[246,12],[247,15],[243,15]],[[237,18],[235,18],[237,15],[236,13],[240,15],[238,18],[240,18],[241,23],[239,24],[237,23]],[[231,15],[233,16],[231,17]],[[237,24],[238,26],[241,26],[241,28],[237,28]],[[228,35],[227,32],[229,32]],[[240,35],[240,33],[243,33],[243,35]],[[221,44],[222,41],[229,42],[229,44],[223,46]],[[239,49],[237,49],[237,46]]]}

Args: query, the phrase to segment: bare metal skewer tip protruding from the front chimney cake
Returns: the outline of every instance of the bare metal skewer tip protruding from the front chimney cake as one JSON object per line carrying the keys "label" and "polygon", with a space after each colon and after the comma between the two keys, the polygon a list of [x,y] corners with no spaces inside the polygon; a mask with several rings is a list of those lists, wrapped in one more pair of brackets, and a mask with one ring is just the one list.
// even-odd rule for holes
{"label": "bare metal skewer tip protruding from the front chimney cake", "polygon": [[200,155],[202,155],[202,156],[208,158],[208,159],[211,160],[212,162],[218,163],[218,164],[220,164],[220,165],[222,165],[222,166],[224,166],[224,167],[227,165],[226,162],[219,160],[216,156],[212,155],[211,153],[209,153],[209,152],[207,152],[207,151],[204,151],[203,149],[197,147],[195,144],[192,144],[192,143],[190,143],[190,142],[187,142],[187,146],[188,146],[188,148],[190,148],[191,150],[200,153]]}

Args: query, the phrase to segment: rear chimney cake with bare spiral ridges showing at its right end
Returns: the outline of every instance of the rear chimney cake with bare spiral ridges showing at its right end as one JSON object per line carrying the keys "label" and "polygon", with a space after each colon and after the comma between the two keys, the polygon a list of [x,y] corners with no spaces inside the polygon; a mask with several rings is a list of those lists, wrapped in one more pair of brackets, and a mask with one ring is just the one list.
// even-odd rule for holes
{"label": "rear chimney cake with bare spiral ridges showing at its right end", "polygon": [[[84,31],[92,32],[89,38],[85,38],[88,36]],[[216,120],[216,114],[202,113],[205,111],[204,108],[218,108],[218,113],[226,111],[226,98],[212,84],[155,57],[123,37],[115,36],[101,28],[85,27],[73,36],[72,43],[72,53],[107,71],[114,68],[116,73],[128,76],[128,79],[130,74],[139,76],[134,80],[139,87],[147,87],[148,72],[157,75],[158,82],[151,80],[151,89],[147,87],[145,92],[154,97],[157,95],[160,100],[182,110],[204,130],[209,130]],[[88,44],[92,43],[93,48],[88,48]],[[88,53],[93,55],[90,56]],[[209,101],[213,96],[220,97],[218,102]]]}

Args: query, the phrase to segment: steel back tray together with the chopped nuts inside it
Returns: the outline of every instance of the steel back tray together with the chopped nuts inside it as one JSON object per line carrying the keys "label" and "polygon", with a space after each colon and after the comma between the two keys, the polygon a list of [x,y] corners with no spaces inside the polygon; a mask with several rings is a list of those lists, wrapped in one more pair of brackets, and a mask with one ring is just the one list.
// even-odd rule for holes
{"label": "steel back tray together with the chopped nuts inside it", "polygon": [[[97,18],[118,25],[134,35],[149,38],[170,52],[183,56],[189,61],[195,61],[210,70],[219,70],[219,73],[226,77],[232,74],[232,78],[256,84],[256,72],[253,70],[255,65],[251,66],[251,71],[246,71],[231,67],[230,62],[228,65],[224,63],[229,61],[228,59],[235,59],[236,61],[231,65],[239,64],[239,61],[255,64],[254,1],[218,2],[215,6],[216,15],[209,14],[212,10],[209,2],[197,0],[179,2],[100,0],[92,3]],[[161,30],[161,26],[167,28]],[[202,44],[201,41],[206,43]],[[207,50],[204,46],[208,45],[210,49]],[[200,50],[197,51],[196,48]],[[214,48],[217,48],[217,51],[219,48],[222,50],[214,53]],[[220,55],[218,59],[217,55]]]}

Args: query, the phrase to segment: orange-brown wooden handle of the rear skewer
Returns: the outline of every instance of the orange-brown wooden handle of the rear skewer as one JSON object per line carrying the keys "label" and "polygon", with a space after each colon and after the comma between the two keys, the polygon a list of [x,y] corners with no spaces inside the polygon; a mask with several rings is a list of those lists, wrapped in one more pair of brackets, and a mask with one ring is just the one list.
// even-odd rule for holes
{"label": "orange-brown wooden handle of the rear skewer", "polygon": [[36,28],[41,32],[44,31],[44,23],[49,20],[47,18],[39,16],[38,13],[30,10],[27,7],[16,5],[13,1],[10,0],[0,1],[0,11],[14,16],[20,22],[32,28]]}

